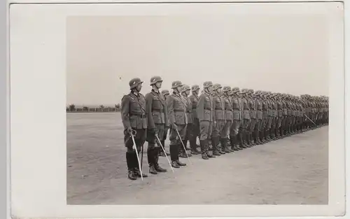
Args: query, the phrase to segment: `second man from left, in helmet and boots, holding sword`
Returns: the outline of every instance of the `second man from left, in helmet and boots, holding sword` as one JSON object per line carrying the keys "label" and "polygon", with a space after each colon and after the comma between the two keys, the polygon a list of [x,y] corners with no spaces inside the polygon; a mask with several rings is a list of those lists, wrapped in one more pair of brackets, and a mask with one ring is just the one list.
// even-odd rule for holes
{"label": "second man from left, in helmet and boots, holding sword", "polygon": [[[150,174],[158,174],[158,172],[166,172],[167,169],[163,169],[158,164],[159,154],[162,148],[160,143],[164,142],[165,127],[168,126],[167,116],[167,104],[165,97],[160,93],[162,87],[162,78],[160,76],[154,76],[151,78],[152,91],[146,94],[146,114],[147,114],[147,158],[148,166],[150,168]],[[158,142],[158,139],[160,142]]]}

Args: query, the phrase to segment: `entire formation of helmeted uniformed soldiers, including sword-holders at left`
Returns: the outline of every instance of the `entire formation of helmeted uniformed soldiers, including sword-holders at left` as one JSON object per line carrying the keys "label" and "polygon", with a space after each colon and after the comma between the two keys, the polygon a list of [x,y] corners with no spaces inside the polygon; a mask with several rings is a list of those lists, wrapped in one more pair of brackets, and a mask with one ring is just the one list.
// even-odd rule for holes
{"label": "entire formation of helmeted uniformed soldiers, including sword-holders at left", "polygon": [[[158,174],[167,172],[158,163],[160,156],[170,156],[172,167],[180,168],[186,163],[179,157],[201,154],[209,160],[328,124],[328,98],[323,96],[239,90],[211,81],[204,82],[201,94],[199,85],[189,87],[174,81],[170,94],[168,90],[160,92],[160,76],[151,78],[152,90],[144,96],[142,83],[139,78],[130,80],[131,92],[121,104],[131,180],[147,177],[138,160],[145,141],[149,172]],[[165,152],[168,131],[170,153]]]}

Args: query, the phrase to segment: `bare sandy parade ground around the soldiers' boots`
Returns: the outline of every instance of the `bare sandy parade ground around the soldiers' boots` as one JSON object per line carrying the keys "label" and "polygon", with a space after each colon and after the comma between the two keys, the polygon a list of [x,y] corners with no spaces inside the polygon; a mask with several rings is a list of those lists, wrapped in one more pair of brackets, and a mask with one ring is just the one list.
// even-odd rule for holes
{"label": "bare sandy parade ground around the soldiers' boots", "polygon": [[[127,179],[119,113],[67,114],[67,204],[328,204],[328,127]],[[165,143],[169,150],[169,142]],[[146,152],[147,144],[145,144]]]}

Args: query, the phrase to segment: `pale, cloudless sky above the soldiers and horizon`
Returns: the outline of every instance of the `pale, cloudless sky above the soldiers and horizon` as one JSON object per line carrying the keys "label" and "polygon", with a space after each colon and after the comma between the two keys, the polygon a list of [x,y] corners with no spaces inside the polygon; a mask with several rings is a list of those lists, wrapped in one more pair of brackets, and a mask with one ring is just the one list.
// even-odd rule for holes
{"label": "pale, cloudless sky above the soldiers and horizon", "polygon": [[70,17],[67,104],[119,104],[129,81],[328,95],[323,15]]}

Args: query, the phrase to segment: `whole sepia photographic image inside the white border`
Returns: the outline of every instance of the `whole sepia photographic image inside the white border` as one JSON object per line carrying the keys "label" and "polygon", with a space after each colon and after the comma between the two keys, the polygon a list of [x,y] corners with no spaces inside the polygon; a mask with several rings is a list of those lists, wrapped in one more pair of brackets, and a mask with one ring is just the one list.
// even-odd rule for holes
{"label": "whole sepia photographic image inside the white border", "polygon": [[67,204],[328,204],[323,15],[69,17]]}

